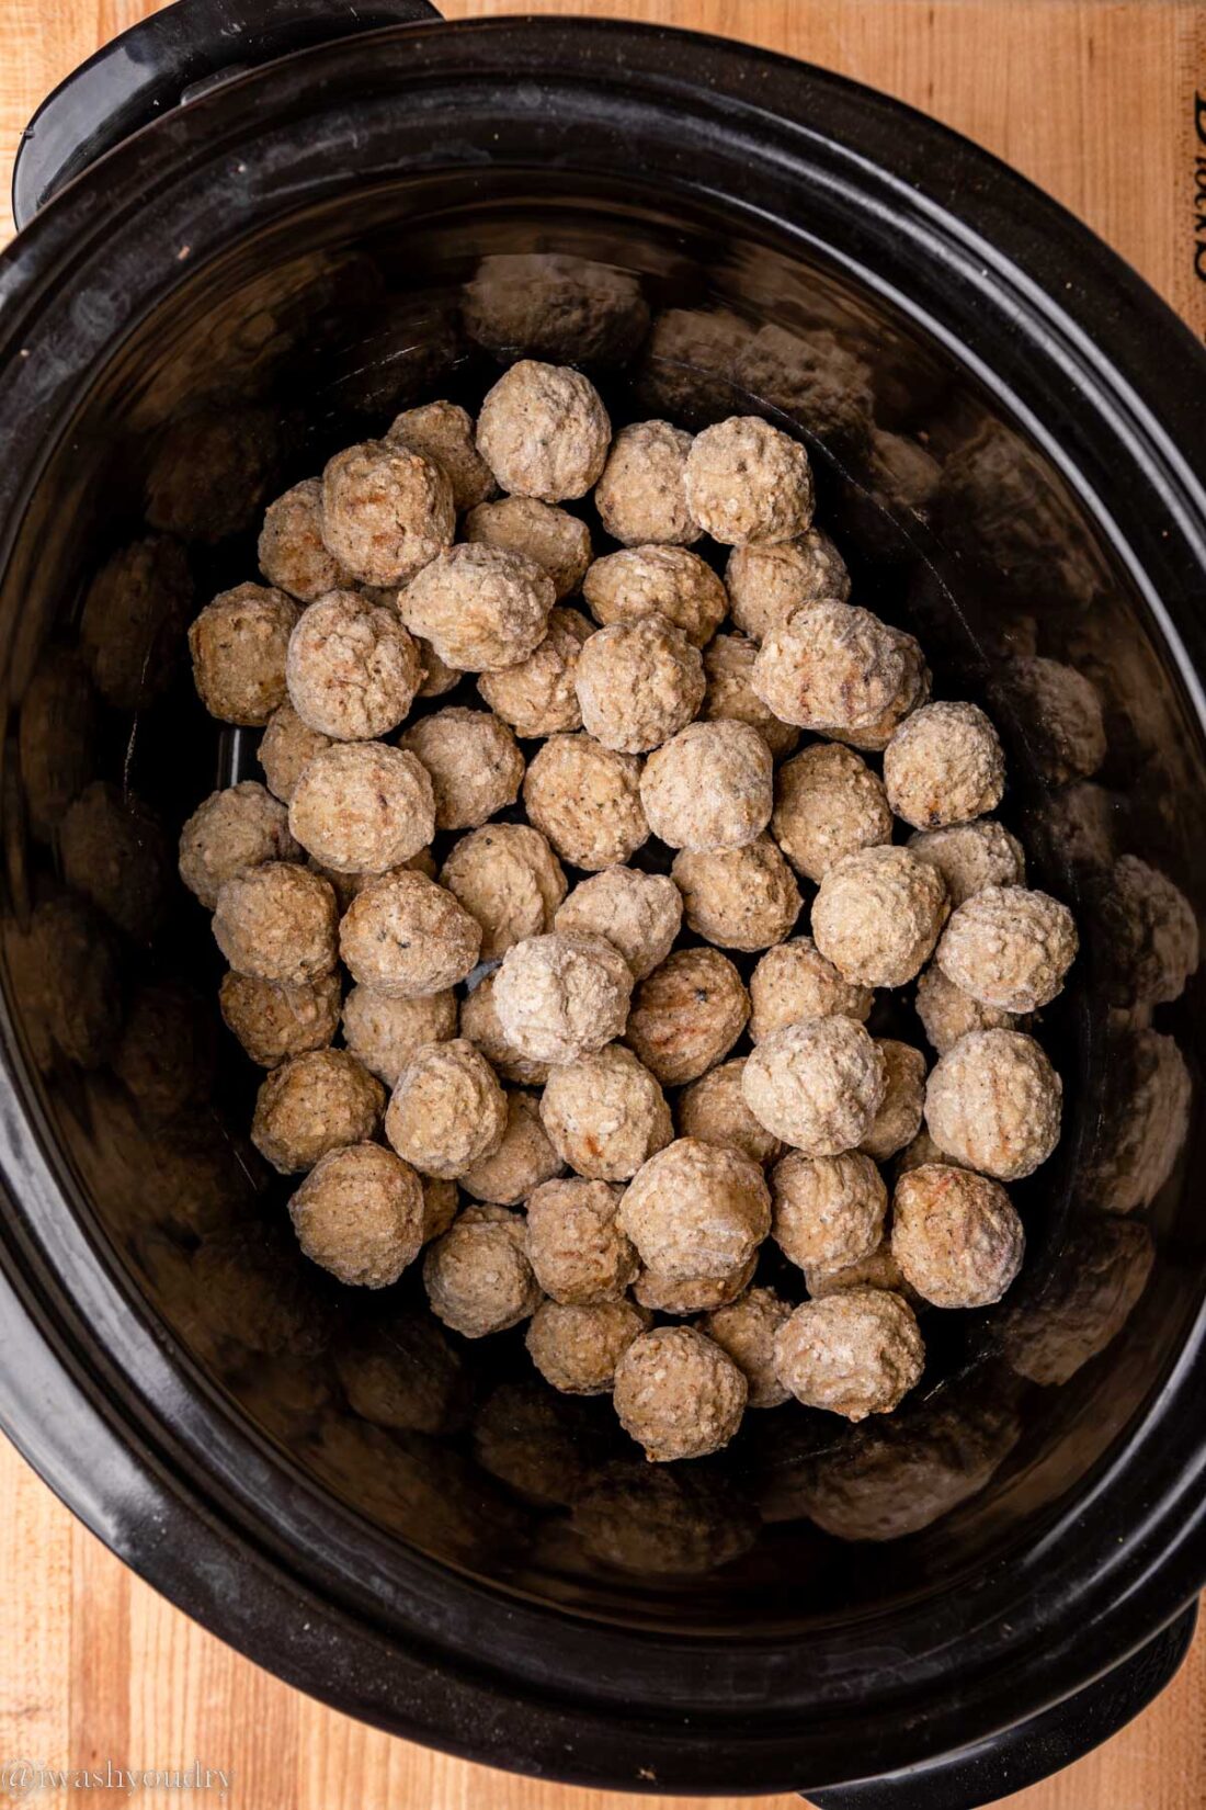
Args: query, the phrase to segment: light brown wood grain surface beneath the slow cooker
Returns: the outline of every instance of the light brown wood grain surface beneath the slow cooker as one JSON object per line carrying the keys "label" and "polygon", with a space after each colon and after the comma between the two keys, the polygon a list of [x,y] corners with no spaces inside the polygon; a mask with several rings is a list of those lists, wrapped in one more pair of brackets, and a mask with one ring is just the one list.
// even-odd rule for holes
{"label": "light brown wood grain surface beneath the slow cooker", "polygon": [[[336,0],[333,0],[336,4]],[[519,11],[441,0],[450,18]],[[4,0],[0,186],[38,100],[145,0]],[[937,114],[1088,221],[1199,331],[1193,94],[1206,9],[1161,0],[528,0],[749,38]],[[0,215],[0,241],[11,223]],[[203,1767],[235,1810],[618,1810],[620,1796],[470,1767],[363,1729],[257,1671],[132,1577],[0,1441],[0,1767]],[[0,1774],[0,1797],[5,1785]],[[51,1794],[51,1801],[60,1794]],[[152,1794],[157,1805],[179,1794]],[[90,1790],[92,1805],[128,1796]],[[197,1803],[197,1799],[193,1799]],[[736,1803],[738,1799],[732,1799]],[[197,1810],[201,1810],[201,1803]],[[651,1806],[682,1803],[653,1797]],[[718,1799],[725,1805],[729,1799]],[[783,1810],[799,1803],[776,1799]],[[1206,1633],[1175,1683],[1014,1810],[1206,1805]]]}

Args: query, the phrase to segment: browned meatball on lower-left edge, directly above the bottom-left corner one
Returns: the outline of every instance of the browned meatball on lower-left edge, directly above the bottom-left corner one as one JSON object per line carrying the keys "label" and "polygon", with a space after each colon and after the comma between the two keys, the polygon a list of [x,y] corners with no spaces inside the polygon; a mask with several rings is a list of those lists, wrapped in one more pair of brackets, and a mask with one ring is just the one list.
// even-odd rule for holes
{"label": "browned meatball on lower-left edge, directly above the bottom-left corner one", "polygon": [[344,1144],[371,1138],[385,1088],[347,1050],[309,1050],[273,1068],[255,1097],[251,1142],[273,1169],[313,1169]]}

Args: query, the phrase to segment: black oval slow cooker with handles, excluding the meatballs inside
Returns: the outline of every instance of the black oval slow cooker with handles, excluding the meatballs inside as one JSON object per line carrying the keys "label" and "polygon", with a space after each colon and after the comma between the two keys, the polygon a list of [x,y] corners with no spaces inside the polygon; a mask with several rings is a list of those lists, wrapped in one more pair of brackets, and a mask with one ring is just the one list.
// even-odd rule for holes
{"label": "black oval slow cooker with handles, excluding the meatballs inside", "polygon": [[[492,1765],[940,1810],[1094,1745],[1175,1667],[1206,1577],[1201,348],[933,121],[624,24],[183,0],[47,101],[16,205],[13,1439],[251,1658]],[[519,353],[803,436],[859,599],[920,635],[940,695],[989,702],[1005,818],[1078,912],[1023,1276],[929,1316],[879,1426],[777,1410],[642,1466],[606,1401],[533,1390],[519,1339],[445,1339],[414,1278],[327,1289],[246,1146],[255,1075],[215,1044],[217,954],[163,869],[197,798],[257,769],[192,695],[183,626],[255,576],[266,500]],[[96,782],[141,800],[132,853],[63,849]],[[356,1381],[382,1341],[389,1410]]]}

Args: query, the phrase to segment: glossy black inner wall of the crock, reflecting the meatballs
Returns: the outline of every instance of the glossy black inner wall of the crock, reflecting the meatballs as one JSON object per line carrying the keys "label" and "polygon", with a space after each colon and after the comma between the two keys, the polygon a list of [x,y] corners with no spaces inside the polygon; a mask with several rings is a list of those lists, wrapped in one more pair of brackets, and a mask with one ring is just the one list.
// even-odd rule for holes
{"label": "glossy black inner wall of the crock, reflecting the meatballs", "polygon": [[[835,270],[638,203],[432,177],[183,261],[49,458],[4,579],[5,988],[81,1211],[293,1462],[391,1537],[582,1613],[799,1624],[1032,1533],[1175,1352],[1201,1289],[1202,749],[1135,586],[964,371]],[[248,1140],[260,1072],[222,1030],[175,840],[213,786],[262,775],[255,733],[195,699],[184,630],[259,576],[266,501],[412,402],[476,407],[521,353],[580,362],[618,416],[758,411],[806,440],[855,601],[922,639],[935,695],[996,717],[1002,816],[1078,912],[1041,1026],[1067,1131],[1016,1189],[1023,1276],[998,1309],[926,1314],[891,1419],[788,1405],[718,1459],[645,1466],[606,1397],[539,1385],[519,1332],[445,1334],[416,1271],[369,1298],[306,1263],[291,1184]],[[924,1043],[909,992],[872,1028]],[[382,1336],[409,1377],[391,1414],[360,1381]]]}

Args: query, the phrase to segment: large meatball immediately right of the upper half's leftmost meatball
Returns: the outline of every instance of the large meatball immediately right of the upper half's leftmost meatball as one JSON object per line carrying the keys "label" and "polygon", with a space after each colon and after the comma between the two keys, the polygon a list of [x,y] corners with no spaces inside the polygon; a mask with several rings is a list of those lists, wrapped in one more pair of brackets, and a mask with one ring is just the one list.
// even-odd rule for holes
{"label": "large meatball immediately right of the upper half's leftmost meatball", "polygon": [[333,590],[302,612],[289,635],[286,679],[289,702],[311,729],[367,742],[398,728],[423,670],[396,610]]}

